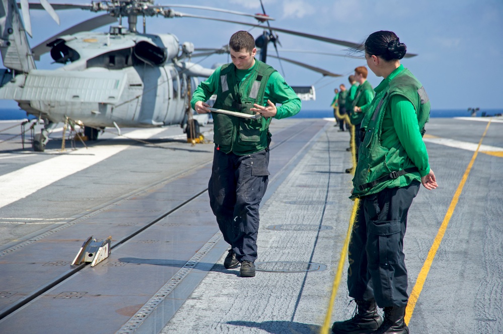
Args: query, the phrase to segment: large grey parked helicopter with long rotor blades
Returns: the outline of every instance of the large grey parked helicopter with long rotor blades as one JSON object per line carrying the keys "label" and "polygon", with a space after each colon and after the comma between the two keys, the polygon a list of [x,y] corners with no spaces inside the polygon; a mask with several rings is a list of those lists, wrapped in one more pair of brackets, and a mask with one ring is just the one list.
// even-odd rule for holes
{"label": "large grey parked helicopter with long rotor blades", "polygon": [[[19,13],[21,7],[23,19]],[[244,23],[215,17],[190,15],[173,8],[199,8],[209,11],[252,17],[258,23]],[[89,19],[44,42],[30,48],[27,35],[32,36],[29,8],[44,9],[58,22],[55,10],[82,9],[107,14]],[[263,9],[263,6],[262,6]],[[143,18],[143,33],[136,30],[137,17]],[[264,26],[256,40],[261,48],[261,60],[266,61],[267,45],[274,44],[277,35],[284,32],[329,43],[357,47],[357,43],[335,40],[301,32],[273,28],[263,14],[246,14],[229,10],[190,5],[155,5],[153,1],[113,0],[81,4],[40,4],[22,0],[2,0],[0,4],[0,51],[6,69],[0,69],[0,99],[14,99],[27,114],[33,115],[44,128],[33,138],[34,151],[43,152],[49,133],[59,122],[73,121],[84,126],[84,134],[96,140],[100,130],[114,127],[120,134],[122,127],[187,126],[187,136],[195,132],[198,123],[207,122],[208,115],[194,115],[189,105],[191,90],[198,78],[208,77],[212,68],[204,68],[191,61],[197,48],[190,42],[180,44],[173,34],[150,34],[146,31],[146,18],[191,17]],[[122,19],[127,18],[127,28]],[[108,25],[108,33],[92,30]],[[200,49],[198,51],[201,51]],[[35,60],[49,52],[55,63],[63,65],[55,70],[40,70]],[[210,53],[228,52],[225,48]],[[279,57],[277,55],[276,57]],[[314,66],[297,63],[322,75],[340,76]],[[306,88],[307,91],[306,91]],[[313,88],[314,90],[314,88]],[[311,96],[314,91],[301,87],[299,95]],[[307,97],[309,98],[309,97]]]}

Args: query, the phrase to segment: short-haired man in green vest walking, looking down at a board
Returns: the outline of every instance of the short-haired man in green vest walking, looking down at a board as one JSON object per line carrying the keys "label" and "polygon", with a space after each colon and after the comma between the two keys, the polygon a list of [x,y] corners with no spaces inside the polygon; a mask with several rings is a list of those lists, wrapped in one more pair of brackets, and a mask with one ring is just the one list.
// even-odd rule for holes
{"label": "short-haired man in green vest walking, looking down at a board", "polygon": [[248,32],[232,35],[229,46],[232,63],[201,82],[190,103],[196,113],[209,113],[206,101],[217,94],[214,108],[262,116],[245,119],[212,113],[215,149],[208,184],[211,209],[231,245],[224,266],[232,269],[241,264],[240,276],[253,277],[259,205],[269,175],[269,124],[272,118],[299,113],[301,100],[276,70],[254,58],[255,40]]}

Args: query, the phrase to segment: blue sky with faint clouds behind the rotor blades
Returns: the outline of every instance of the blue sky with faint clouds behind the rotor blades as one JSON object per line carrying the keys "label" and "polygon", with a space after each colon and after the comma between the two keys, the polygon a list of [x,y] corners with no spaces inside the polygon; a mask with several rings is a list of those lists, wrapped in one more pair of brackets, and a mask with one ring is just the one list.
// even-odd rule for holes
{"label": "blue sky with faint clouds behind the rotor blades", "polygon": [[[38,0],[32,0],[38,2]],[[53,1],[51,3],[86,3]],[[156,4],[169,5],[165,0]],[[179,1],[178,3],[182,3]],[[261,13],[260,0],[187,0],[185,5],[215,7],[250,14]],[[173,3],[171,3],[173,4]],[[467,109],[481,111],[503,109],[503,1],[501,0],[263,0],[266,13],[275,19],[272,27],[289,29],[312,35],[350,42],[364,42],[368,35],[379,30],[397,34],[407,51],[418,56],[404,58],[401,63],[422,82],[432,103],[432,109]],[[212,16],[234,21],[255,23],[253,18],[185,8],[174,8],[187,14]],[[61,26],[47,13],[31,10],[32,47],[58,31],[87,20],[96,13],[82,10],[58,11]],[[98,13],[101,14],[101,13]],[[123,25],[126,25],[125,20]],[[138,18],[138,31],[142,31]],[[219,48],[228,44],[238,30],[247,30],[258,37],[263,27],[214,22],[192,18],[148,18],[148,33],[172,33],[183,43]],[[108,27],[96,31],[108,31]],[[315,101],[303,101],[304,110],[330,109],[333,90],[339,84],[348,86],[347,76],[357,66],[365,66],[365,59],[349,57],[347,47],[286,33],[277,33],[281,46],[279,55],[312,66],[320,67],[342,77],[320,73],[268,58],[267,63],[278,70],[291,86],[311,86],[316,90]],[[297,52],[329,53],[312,54]],[[269,44],[269,54],[275,54]],[[335,56],[334,54],[340,55]],[[230,62],[227,55],[193,58],[194,62],[211,68]],[[50,69],[48,54],[37,62],[37,68]],[[281,68],[282,67],[282,68]],[[383,78],[369,71],[368,81],[376,87]],[[17,107],[14,101],[0,101],[5,107]]]}

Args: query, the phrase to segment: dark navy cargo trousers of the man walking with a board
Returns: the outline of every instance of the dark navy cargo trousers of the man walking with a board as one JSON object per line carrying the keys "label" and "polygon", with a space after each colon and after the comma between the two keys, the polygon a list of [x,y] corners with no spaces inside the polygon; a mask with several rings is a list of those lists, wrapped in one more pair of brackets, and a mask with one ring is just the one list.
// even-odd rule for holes
{"label": "dark navy cargo trousers of the man walking with a board", "polygon": [[215,149],[209,203],[224,240],[240,261],[257,259],[260,201],[269,180],[269,149],[244,156]]}

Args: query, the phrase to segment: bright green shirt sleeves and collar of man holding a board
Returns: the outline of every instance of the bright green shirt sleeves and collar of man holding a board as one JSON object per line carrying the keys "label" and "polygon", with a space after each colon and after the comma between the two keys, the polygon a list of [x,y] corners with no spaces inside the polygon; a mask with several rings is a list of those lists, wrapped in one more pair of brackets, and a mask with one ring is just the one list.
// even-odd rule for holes
{"label": "bright green shirt sleeves and collar of man holding a board", "polygon": [[[254,71],[255,66],[257,66],[257,62],[249,69],[236,69],[237,80],[242,82],[252,71]],[[220,70],[221,67],[215,69],[207,80],[199,84],[192,94],[192,99],[190,101],[192,108],[194,108],[197,101],[207,101],[211,95],[217,93],[220,84]],[[273,72],[267,81],[262,105],[268,105],[268,99],[273,103],[281,104],[276,106],[277,112],[274,118],[277,120],[294,116],[300,112],[302,105],[301,99],[278,72]]]}

